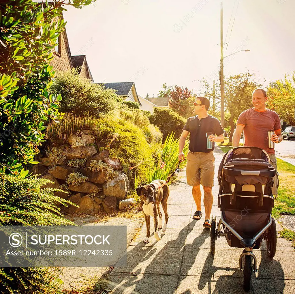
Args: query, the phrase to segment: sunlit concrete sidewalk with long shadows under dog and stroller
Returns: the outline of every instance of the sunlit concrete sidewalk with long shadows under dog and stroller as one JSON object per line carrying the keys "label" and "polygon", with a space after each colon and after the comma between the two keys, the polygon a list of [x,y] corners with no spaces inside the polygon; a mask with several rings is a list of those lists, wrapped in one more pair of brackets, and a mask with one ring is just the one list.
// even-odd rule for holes
{"label": "sunlit concrete sidewalk with long shadows under dog and stroller", "polygon": [[[222,151],[217,148],[212,208],[212,215],[217,215],[217,219],[220,218],[217,171],[222,156]],[[185,171],[170,188],[167,231],[161,233],[160,230],[160,241],[157,242],[152,235],[150,243],[144,244],[146,226],[143,225],[140,236],[127,248],[127,267],[115,267],[109,275],[112,293],[245,293],[243,272],[238,269],[242,249],[229,247],[221,237],[216,241],[213,257],[210,253],[210,230],[202,226],[204,212],[201,220],[192,219],[196,205],[191,187],[186,184]],[[277,224],[277,231],[280,229]],[[295,293],[295,252],[291,242],[278,238],[273,260],[266,255],[265,241],[254,253],[258,273],[252,275],[249,293]]]}

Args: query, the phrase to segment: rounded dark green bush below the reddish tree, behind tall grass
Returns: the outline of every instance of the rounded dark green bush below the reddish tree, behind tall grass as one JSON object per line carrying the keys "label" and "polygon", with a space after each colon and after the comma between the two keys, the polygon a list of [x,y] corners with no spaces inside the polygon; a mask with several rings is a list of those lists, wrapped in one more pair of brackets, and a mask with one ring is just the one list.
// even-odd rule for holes
{"label": "rounded dark green bush below the reddish tree, behind tall grass", "polygon": [[156,107],[150,116],[150,123],[161,130],[164,141],[171,132],[175,132],[176,139],[179,138],[186,120],[171,109]]}

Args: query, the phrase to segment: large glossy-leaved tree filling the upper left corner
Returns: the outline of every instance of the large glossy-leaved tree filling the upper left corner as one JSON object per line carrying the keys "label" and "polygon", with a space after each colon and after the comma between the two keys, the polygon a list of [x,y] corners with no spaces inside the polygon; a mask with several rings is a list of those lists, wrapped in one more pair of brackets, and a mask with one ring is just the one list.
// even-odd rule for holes
{"label": "large glossy-leaved tree filling the upper left corner", "polygon": [[81,8],[91,0],[5,1],[0,4],[0,171],[27,175],[44,137],[45,122],[58,120],[60,95],[50,95],[52,51],[63,31],[63,4]]}

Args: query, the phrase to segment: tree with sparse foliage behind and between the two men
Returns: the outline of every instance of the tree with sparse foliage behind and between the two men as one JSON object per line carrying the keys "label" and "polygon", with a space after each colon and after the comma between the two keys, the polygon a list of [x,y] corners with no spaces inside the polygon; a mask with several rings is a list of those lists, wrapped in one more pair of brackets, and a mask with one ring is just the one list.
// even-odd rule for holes
{"label": "tree with sparse foliage behind and between the two men", "polygon": [[255,79],[255,74],[249,72],[237,74],[224,79],[224,102],[227,112],[229,112],[230,136],[235,129],[235,120],[240,113],[252,107],[252,92],[255,88],[261,87]]}

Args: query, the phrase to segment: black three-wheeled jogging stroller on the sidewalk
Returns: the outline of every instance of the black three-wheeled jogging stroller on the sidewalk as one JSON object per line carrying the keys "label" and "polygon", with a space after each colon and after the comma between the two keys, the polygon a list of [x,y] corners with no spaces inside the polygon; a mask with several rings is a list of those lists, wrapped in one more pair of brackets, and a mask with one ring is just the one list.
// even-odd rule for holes
{"label": "black three-wheeled jogging stroller on the sidewalk", "polygon": [[[257,147],[237,147],[228,151],[219,166],[218,207],[221,218],[212,216],[211,246],[215,254],[217,237],[224,236],[230,247],[245,248],[244,289],[250,290],[251,273],[257,271],[253,249],[266,239],[267,255],[276,253],[276,223],[271,217],[274,197],[271,192],[276,170],[268,154]],[[252,269],[253,258],[253,269]]]}

